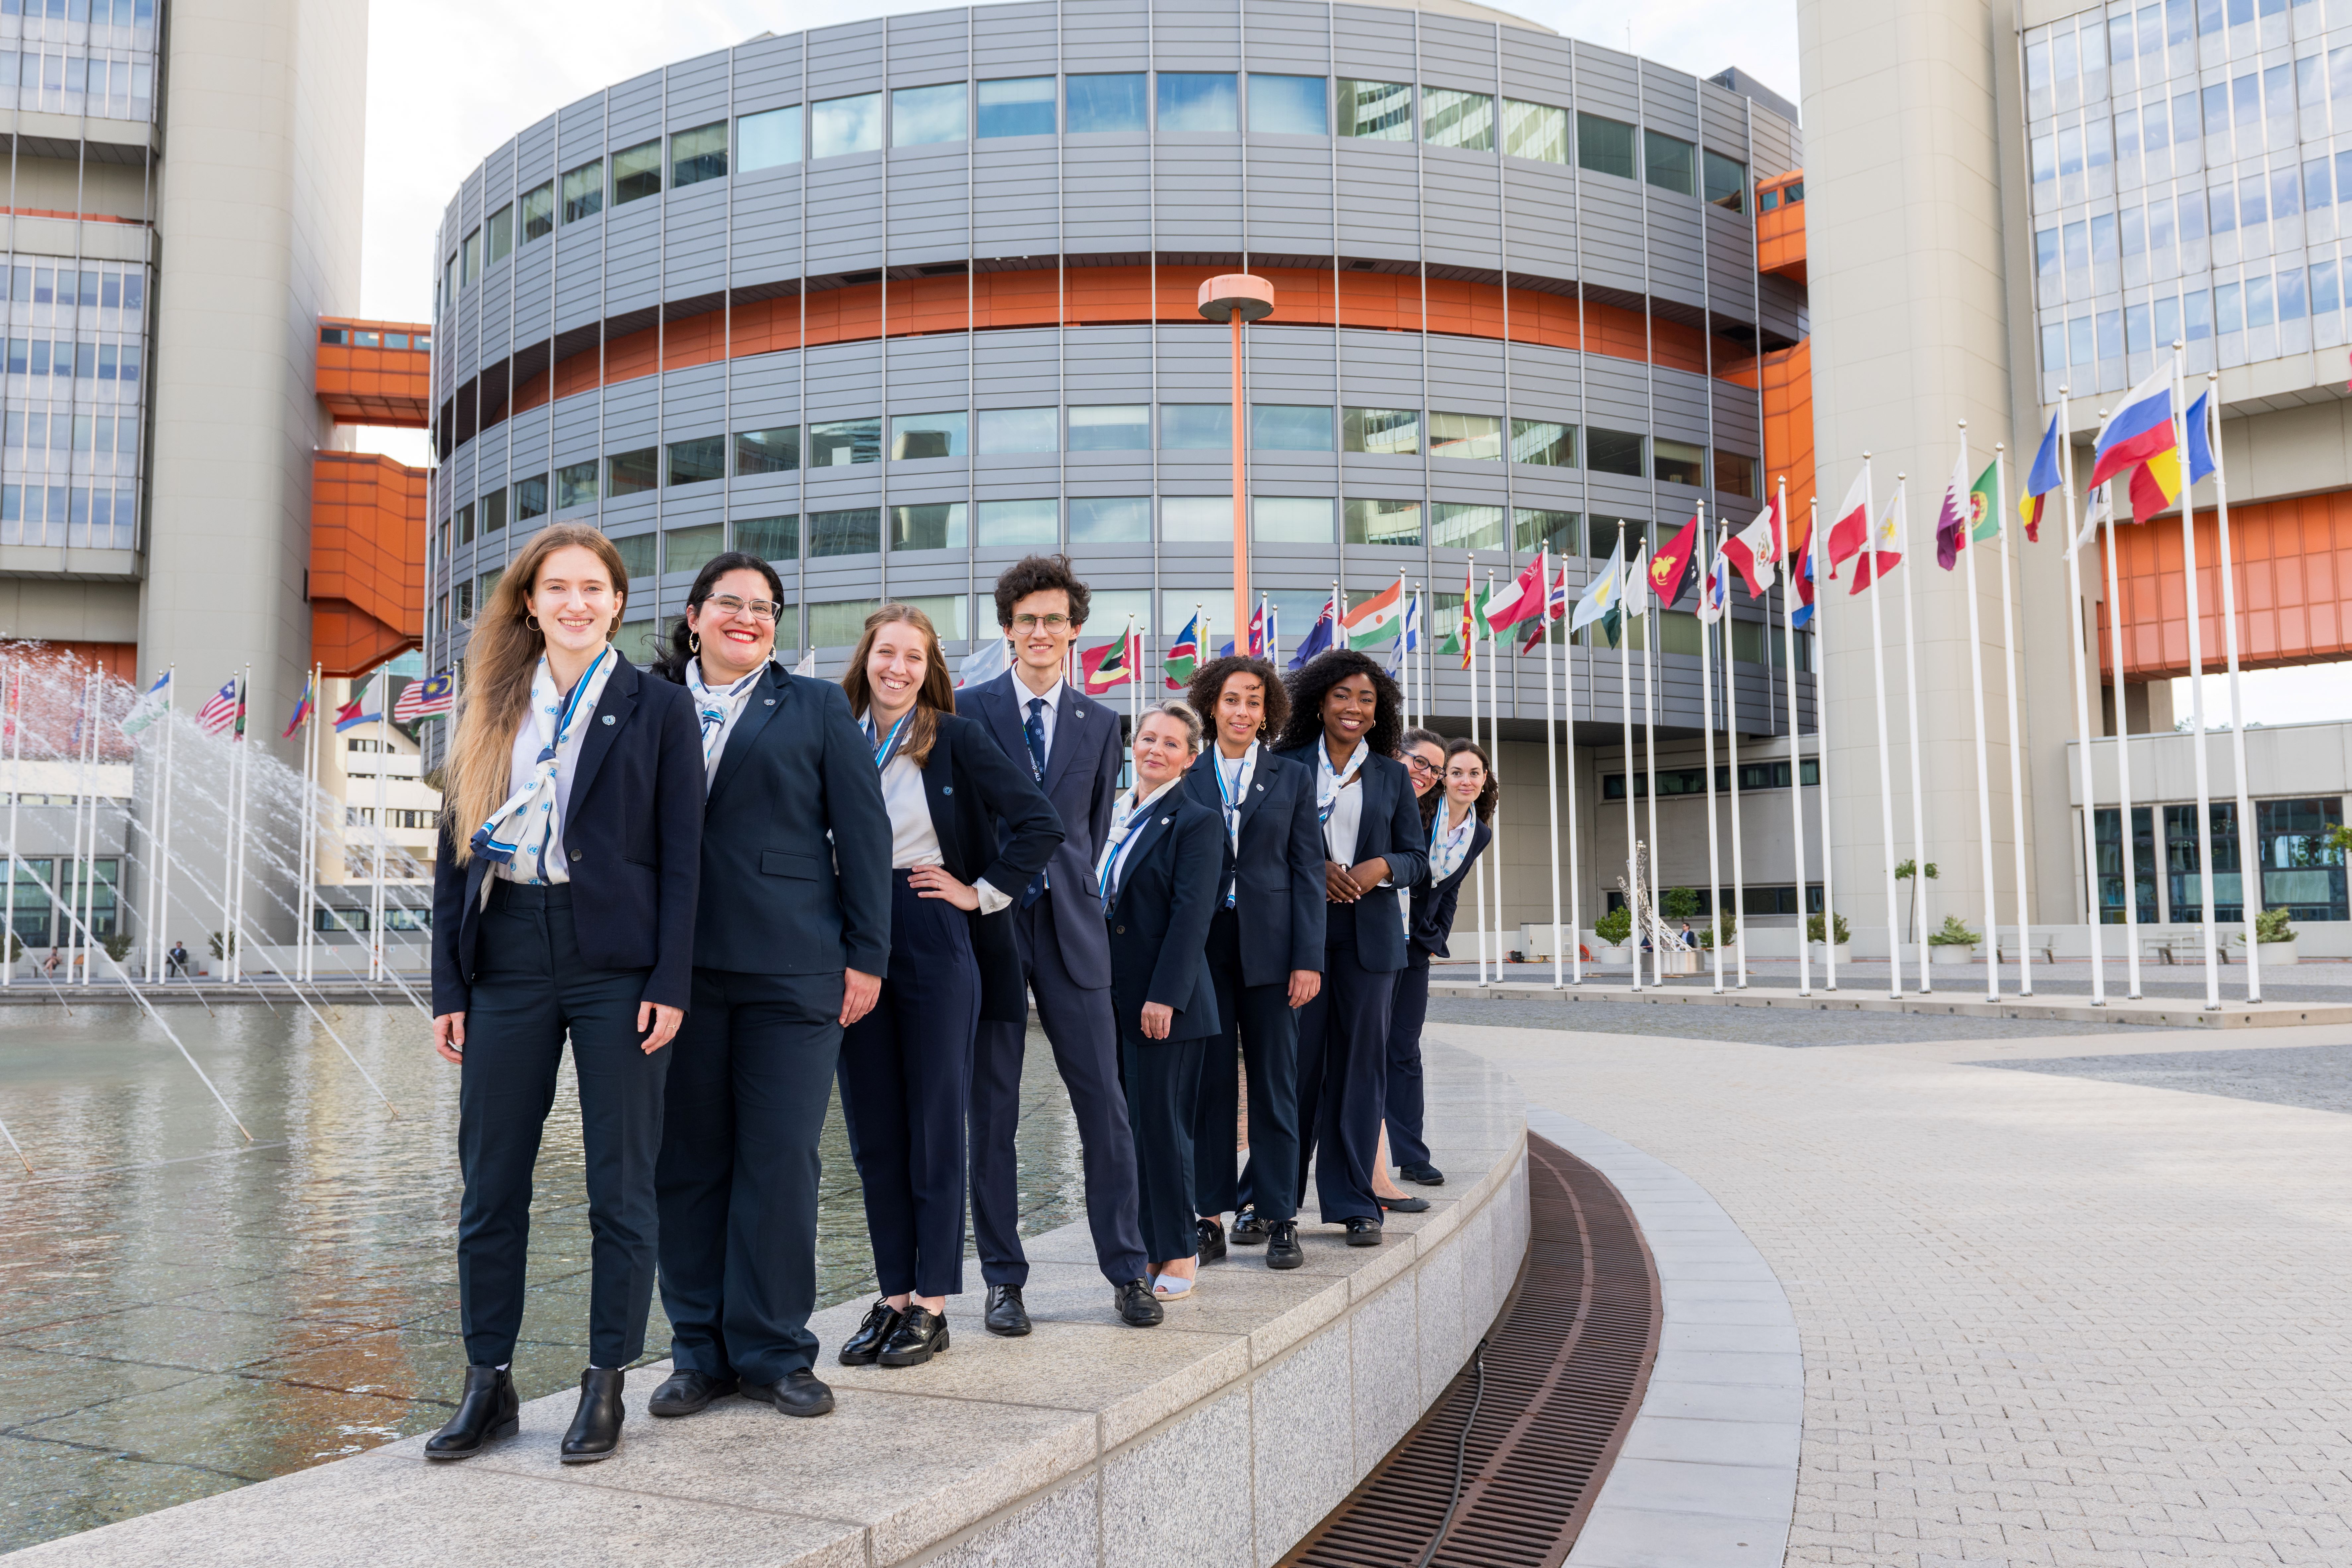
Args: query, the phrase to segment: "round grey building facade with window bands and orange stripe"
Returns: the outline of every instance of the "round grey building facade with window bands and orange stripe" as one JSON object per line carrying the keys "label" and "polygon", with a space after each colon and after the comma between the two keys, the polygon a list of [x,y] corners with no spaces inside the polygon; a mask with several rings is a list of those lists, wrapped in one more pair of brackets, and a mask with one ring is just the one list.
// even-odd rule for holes
{"label": "round grey building facade with window bands and orange stripe", "polygon": [[[1098,637],[1134,616],[1157,656],[1207,604],[1225,642],[1237,437],[1284,646],[1334,581],[1425,583],[1444,625],[1550,543],[1573,592],[1621,524],[1764,494],[1759,355],[1806,327],[1757,270],[1757,183],[1797,165],[1764,101],[1468,5],[983,5],[647,71],[449,202],[428,658],[557,517],[628,557],[633,656],[729,545],[828,675],[884,597],[962,654],[1051,548]],[[1244,268],[1277,303],[1237,433],[1195,292]],[[1696,726],[1679,621],[1663,701]],[[1759,621],[1733,651],[1766,729]],[[1515,663],[1505,712],[1541,717]],[[1573,663],[1613,729],[1616,654]]]}

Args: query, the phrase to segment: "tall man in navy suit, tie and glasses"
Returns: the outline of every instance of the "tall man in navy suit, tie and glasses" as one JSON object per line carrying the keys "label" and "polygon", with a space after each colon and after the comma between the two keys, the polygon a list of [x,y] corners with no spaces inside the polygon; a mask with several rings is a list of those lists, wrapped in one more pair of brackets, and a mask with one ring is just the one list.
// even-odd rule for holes
{"label": "tall man in navy suit, tie and glasses", "polygon": [[[997,623],[1014,642],[1014,668],[962,693],[957,708],[1028,762],[1061,816],[1061,846],[1014,898],[1021,978],[1037,999],[1037,1023],[1077,1112],[1087,1168],[1087,1225],[1112,1286],[1148,1274],[1136,1211],[1136,1140],[1120,1088],[1120,1030],[1110,1013],[1110,936],[1094,863],[1110,837],[1120,792],[1120,715],[1089,703],[1063,679],[1070,644],[1087,623],[1087,585],[1068,557],[1030,555],[997,578]],[[981,1023],[971,1060],[971,1232],[988,1281],[988,1333],[1030,1331],[1021,1291],[1018,1171],[1021,1056],[1025,1025]]]}

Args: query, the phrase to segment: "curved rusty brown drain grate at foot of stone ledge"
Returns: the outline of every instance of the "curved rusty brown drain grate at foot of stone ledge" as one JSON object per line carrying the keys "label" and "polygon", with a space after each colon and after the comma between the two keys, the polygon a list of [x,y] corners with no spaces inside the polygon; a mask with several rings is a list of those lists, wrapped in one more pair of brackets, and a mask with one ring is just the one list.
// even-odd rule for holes
{"label": "curved rusty brown drain grate at foot of stone ledge", "polygon": [[[1529,1244],[1486,1335],[1486,1394],[1432,1568],[1557,1568],[1658,1356],[1658,1274],[1609,1180],[1526,1138]],[[1470,1368],[1282,1563],[1411,1568],[1446,1516]]]}

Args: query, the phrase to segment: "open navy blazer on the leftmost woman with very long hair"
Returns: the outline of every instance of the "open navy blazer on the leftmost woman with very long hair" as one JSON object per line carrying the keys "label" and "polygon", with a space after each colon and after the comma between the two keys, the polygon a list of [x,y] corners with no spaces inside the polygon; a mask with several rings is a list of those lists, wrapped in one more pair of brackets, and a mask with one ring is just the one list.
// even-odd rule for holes
{"label": "open navy blazer on the leftmost woman with very long hair", "polygon": [[[644,1001],[682,1009],[694,990],[694,903],[703,863],[703,729],[684,686],[614,651],[564,811],[572,926],[590,969],[649,969]],[[473,1001],[489,860],[456,863],[445,809],[433,856],[433,1013]]]}

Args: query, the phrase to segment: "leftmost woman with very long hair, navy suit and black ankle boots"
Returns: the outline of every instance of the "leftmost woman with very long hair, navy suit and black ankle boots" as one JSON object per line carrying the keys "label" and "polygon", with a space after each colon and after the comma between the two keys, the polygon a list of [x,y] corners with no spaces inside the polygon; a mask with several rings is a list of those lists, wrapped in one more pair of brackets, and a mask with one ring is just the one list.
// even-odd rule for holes
{"label": "leftmost woman with very long hair, navy suit and black ankle boots", "polygon": [[557,522],[489,590],[466,654],[433,860],[433,1044],[459,1079],[466,1392],[426,1441],[463,1460],[515,1432],[532,1166],[564,1039],[588,1166],[588,1371],[562,1441],[621,1446],[623,1368],[654,1293],[661,1053],[684,1018],[701,875],[703,748],[684,686],[612,646],[628,569]]}

